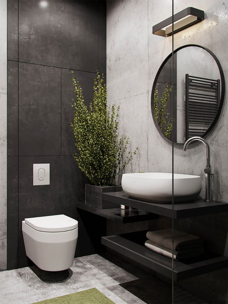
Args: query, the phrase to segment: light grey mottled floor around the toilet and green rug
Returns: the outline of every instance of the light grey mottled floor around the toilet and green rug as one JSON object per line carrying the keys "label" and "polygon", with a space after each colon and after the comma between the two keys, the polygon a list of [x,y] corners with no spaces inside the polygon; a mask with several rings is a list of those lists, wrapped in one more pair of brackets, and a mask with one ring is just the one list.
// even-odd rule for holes
{"label": "light grey mottled floor around the toilet and green rug", "polygon": [[108,287],[136,279],[134,275],[94,254],[75,258],[67,271],[46,272],[36,266],[2,271],[0,289],[4,304],[29,304],[93,287],[116,304],[127,304]]}

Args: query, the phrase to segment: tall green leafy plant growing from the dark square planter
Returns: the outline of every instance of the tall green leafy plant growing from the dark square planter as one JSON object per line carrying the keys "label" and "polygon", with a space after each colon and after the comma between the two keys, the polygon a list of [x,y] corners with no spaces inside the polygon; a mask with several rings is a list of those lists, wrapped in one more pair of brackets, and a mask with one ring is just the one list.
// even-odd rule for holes
{"label": "tall green leafy plant growing from the dark square planter", "polygon": [[[73,73],[73,72],[71,72]],[[89,109],[85,105],[79,82],[72,77],[75,100],[71,106],[74,120],[71,127],[75,136],[77,152],[73,154],[78,167],[96,186],[112,186],[116,176],[132,161],[136,150],[128,150],[129,137],[118,139],[118,116],[116,108],[107,105],[107,89],[102,76],[97,72],[94,79],[94,98]]]}

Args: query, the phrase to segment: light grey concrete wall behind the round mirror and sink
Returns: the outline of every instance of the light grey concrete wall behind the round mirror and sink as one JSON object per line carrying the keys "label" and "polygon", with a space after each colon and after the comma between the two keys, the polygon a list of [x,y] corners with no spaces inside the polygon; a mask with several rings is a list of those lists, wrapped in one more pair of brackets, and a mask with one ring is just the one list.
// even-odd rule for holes
{"label": "light grey concrete wall behind the round mirror and sink", "polygon": [[[165,0],[107,2],[108,103],[121,104],[120,133],[129,135],[132,149],[139,147],[137,157],[125,172],[172,172],[172,146],[156,130],[150,105],[157,70],[172,51],[172,37],[153,35],[152,26],[172,15],[171,5],[171,1]],[[221,63],[227,86],[227,4],[213,0],[174,1],[174,13],[186,7],[204,10],[205,20],[175,34],[174,49],[186,44],[210,49]],[[213,198],[220,201],[228,200],[227,128],[226,93],[220,118],[206,137],[211,146]],[[203,197],[205,158],[202,144],[193,145],[187,152],[183,152],[182,147],[174,148],[174,172],[200,175]],[[227,214],[184,219],[176,221],[175,227],[197,233],[206,239],[209,248],[227,255]],[[224,270],[185,280],[179,285],[208,303],[227,301],[227,272]]]}

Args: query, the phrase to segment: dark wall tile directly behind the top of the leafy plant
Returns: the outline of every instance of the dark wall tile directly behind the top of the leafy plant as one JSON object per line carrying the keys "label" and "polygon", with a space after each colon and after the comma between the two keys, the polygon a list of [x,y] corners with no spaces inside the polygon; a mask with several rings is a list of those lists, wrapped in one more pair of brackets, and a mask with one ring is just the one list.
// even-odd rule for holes
{"label": "dark wall tile directly behind the top of the leafy plant", "polygon": [[[93,85],[95,73],[74,71],[74,77],[81,84],[85,104],[89,105],[93,99]],[[72,155],[76,150],[74,135],[70,122],[73,121],[73,108],[70,103],[74,99],[74,86],[72,84],[71,70],[62,69],[62,155]]]}

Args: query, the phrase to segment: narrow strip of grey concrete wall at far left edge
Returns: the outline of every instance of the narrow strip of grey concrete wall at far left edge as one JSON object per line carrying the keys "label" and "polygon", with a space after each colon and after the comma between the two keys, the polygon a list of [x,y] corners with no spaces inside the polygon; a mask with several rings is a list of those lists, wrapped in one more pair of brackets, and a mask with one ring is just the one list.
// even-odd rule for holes
{"label": "narrow strip of grey concrete wall at far left edge", "polygon": [[0,271],[7,269],[7,0],[0,1]]}

